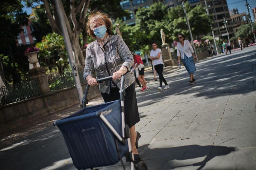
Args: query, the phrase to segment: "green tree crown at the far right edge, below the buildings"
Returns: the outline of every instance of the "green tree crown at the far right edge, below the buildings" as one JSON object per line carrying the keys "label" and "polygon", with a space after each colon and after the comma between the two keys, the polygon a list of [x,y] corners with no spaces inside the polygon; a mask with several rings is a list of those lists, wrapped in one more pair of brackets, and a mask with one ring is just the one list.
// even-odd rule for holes
{"label": "green tree crown at the far right edge, below the buildings", "polygon": [[[252,23],[253,29],[256,29],[256,23]],[[236,32],[236,38],[240,37],[242,38],[249,38],[252,41],[254,41],[254,36],[252,33],[252,27],[251,24],[242,24],[240,27],[238,27],[238,31]]]}

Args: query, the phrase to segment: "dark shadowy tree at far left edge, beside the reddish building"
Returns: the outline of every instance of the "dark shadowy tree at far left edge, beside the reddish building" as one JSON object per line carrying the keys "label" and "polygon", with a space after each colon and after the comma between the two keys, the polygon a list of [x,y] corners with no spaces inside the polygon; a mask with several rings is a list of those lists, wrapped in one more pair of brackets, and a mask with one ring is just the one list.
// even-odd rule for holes
{"label": "dark shadowy tree at far left edge, beside the reddish building", "polygon": [[[15,64],[15,60],[20,59],[19,54],[15,55],[18,51],[16,38],[21,32],[20,25],[25,25],[28,22],[28,15],[23,12],[22,8],[21,0],[4,0],[0,3],[0,41],[2,42],[0,54],[9,57],[8,66],[12,64],[13,67],[9,67],[12,71],[5,73],[5,77],[9,77],[6,74],[10,73],[13,83],[20,82],[20,73]],[[10,79],[8,81],[11,82]]]}

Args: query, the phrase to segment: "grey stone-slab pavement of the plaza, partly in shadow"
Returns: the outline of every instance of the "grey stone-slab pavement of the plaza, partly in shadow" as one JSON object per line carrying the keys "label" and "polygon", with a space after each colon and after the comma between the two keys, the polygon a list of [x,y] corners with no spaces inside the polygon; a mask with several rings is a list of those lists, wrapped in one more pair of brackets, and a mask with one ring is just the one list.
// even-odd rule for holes
{"label": "grey stone-slab pavement of the plaza, partly in shadow", "polygon": [[[149,89],[136,88],[142,160],[152,170],[256,169],[256,46],[199,61],[196,69],[194,85],[182,68],[164,74],[170,88],[161,93],[152,71],[145,73]],[[76,169],[52,123],[80,109],[72,106],[1,134],[0,169]]]}

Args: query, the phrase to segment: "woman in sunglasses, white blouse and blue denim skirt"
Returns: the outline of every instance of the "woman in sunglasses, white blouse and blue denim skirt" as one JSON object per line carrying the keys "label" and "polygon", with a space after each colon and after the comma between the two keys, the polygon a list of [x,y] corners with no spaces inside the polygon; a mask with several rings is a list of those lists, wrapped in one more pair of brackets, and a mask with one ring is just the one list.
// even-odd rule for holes
{"label": "woman in sunglasses, white blouse and blue denim skirt", "polygon": [[183,34],[178,34],[178,40],[179,40],[179,43],[177,44],[178,63],[180,63],[180,57],[181,57],[182,63],[184,64],[186,70],[190,75],[190,81],[188,84],[194,84],[196,82],[196,79],[193,76],[193,73],[196,72],[196,66],[194,62],[194,59],[196,60],[196,56],[194,54],[194,50],[190,45],[189,41],[185,40],[185,36]]}

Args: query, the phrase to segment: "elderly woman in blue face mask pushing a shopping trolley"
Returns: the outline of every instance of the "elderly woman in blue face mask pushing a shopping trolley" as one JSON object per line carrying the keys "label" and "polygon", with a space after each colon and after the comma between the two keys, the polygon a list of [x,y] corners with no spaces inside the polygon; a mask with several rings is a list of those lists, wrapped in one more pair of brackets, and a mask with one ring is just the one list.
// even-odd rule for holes
{"label": "elderly woman in blue face mask pushing a shopping trolley", "polygon": [[137,99],[135,94],[135,77],[131,70],[133,56],[119,35],[111,35],[111,20],[102,12],[92,11],[88,17],[87,33],[95,38],[86,49],[84,79],[90,86],[97,84],[97,79],[113,76],[112,80],[99,83],[104,102],[120,99],[121,76],[124,75],[124,114],[125,124],[130,128],[134,163],[140,161],[138,155],[138,139],[140,133],[135,132],[135,124],[140,121]]}

